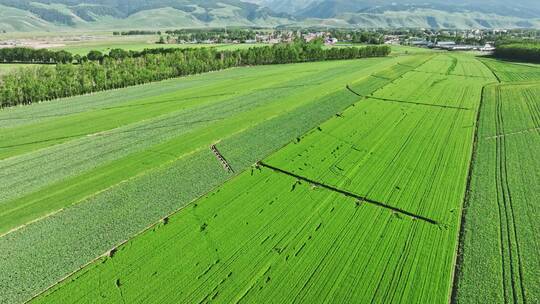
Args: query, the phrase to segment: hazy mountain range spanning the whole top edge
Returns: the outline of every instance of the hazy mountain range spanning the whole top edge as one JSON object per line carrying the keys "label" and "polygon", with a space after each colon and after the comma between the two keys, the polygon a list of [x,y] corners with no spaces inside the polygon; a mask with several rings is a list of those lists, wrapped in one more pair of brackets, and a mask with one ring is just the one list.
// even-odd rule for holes
{"label": "hazy mountain range spanning the whole top edge", "polygon": [[540,28],[540,1],[0,0],[0,30],[339,27]]}

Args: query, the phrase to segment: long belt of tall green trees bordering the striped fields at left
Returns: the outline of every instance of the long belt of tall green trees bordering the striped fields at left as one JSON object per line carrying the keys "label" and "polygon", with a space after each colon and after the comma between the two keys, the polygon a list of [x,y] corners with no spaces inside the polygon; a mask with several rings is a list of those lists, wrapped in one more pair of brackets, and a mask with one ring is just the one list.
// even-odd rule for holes
{"label": "long belt of tall green trees bordering the striped fields at left", "polygon": [[[278,44],[244,50],[153,49],[136,56],[19,69],[4,76],[2,107],[122,88],[236,66],[386,56],[387,46],[323,49],[320,43]],[[130,53],[127,53],[130,54]]]}

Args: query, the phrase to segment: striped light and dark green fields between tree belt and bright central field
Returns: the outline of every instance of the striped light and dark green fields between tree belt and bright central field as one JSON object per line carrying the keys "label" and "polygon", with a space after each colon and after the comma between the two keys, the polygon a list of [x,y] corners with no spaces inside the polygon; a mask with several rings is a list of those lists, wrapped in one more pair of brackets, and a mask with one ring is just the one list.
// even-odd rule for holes
{"label": "striped light and dark green fields between tree belt and bright central field", "polygon": [[369,94],[391,81],[369,75],[427,59],[238,68],[0,111],[0,302],[27,300],[235,176],[211,144],[241,173],[358,101],[346,84]]}

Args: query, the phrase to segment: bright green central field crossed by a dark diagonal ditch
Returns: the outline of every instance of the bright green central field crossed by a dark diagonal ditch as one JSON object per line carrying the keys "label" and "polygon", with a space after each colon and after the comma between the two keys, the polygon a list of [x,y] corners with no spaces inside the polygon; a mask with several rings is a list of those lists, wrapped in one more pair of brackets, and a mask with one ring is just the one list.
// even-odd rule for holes
{"label": "bright green central field crossed by a dark diagonal ditch", "polygon": [[248,169],[33,302],[448,303],[496,78],[470,55],[397,58],[336,80],[354,101],[269,156],[218,142]]}

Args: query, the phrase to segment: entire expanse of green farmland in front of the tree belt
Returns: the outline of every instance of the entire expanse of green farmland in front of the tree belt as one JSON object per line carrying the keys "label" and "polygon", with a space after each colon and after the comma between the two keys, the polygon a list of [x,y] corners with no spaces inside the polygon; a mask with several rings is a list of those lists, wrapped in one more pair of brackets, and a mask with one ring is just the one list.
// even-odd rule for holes
{"label": "entire expanse of green farmland in front of the tree belt", "polygon": [[1,110],[0,303],[540,301],[540,69],[397,50]]}

